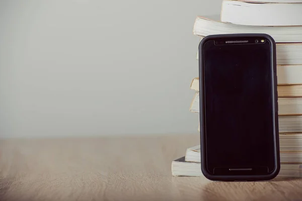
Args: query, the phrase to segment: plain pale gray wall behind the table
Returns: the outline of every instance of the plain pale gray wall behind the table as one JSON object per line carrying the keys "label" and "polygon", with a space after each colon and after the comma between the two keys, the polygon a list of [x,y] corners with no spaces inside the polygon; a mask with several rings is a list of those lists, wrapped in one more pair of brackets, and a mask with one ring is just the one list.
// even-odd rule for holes
{"label": "plain pale gray wall behind the table", "polygon": [[197,133],[198,15],[221,0],[0,1],[0,137]]}

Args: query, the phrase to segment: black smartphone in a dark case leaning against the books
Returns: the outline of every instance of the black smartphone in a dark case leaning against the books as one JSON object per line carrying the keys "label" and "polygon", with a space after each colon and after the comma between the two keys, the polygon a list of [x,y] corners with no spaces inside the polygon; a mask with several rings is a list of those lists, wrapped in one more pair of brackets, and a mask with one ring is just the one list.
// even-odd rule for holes
{"label": "black smartphone in a dark case leaning against the books", "polygon": [[276,45],[267,34],[199,44],[201,170],[210,180],[270,180],[280,169]]}

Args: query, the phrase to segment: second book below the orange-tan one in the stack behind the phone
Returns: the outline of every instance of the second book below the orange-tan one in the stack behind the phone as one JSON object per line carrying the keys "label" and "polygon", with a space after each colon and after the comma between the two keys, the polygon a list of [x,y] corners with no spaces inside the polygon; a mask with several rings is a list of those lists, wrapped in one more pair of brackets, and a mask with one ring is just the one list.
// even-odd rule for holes
{"label": "second book below the orange-tan one in the stack behind the phone", "polygon": [[[291,115],[291,116],[278,116],[279,122],[279,133],[302,133],[302,116]],[[198,129],[200,132],[200,123]]]}

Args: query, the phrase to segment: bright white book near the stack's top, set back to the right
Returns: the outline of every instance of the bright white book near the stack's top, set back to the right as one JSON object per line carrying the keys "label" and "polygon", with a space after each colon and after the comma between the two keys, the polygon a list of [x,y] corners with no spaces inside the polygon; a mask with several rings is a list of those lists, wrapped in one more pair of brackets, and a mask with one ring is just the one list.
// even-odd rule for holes
{"label": "bright white book near the stack's top, set back to the right", "polygon": [[[221,22],[250,26],[301,26],[302,4],[223,0]],[[240,17],[238,17],[240,16]]]}

